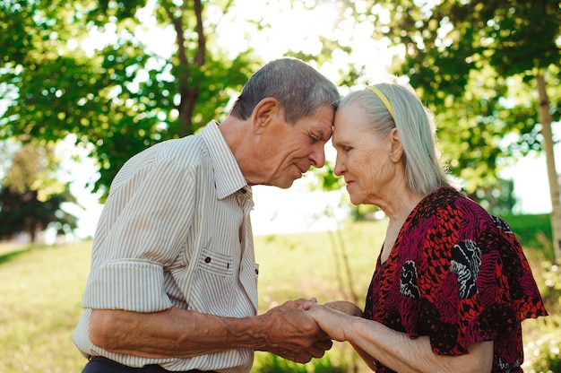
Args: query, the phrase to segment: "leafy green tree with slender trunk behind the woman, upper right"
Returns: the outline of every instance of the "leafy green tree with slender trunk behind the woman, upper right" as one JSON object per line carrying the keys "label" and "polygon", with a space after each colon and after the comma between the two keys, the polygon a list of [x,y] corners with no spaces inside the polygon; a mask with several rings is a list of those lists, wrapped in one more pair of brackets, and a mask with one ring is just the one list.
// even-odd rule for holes
{"label": "leafy green tree with slender trunk behind the woman, upper right", "polygon": [[[551,134],[551,123],[561,117],[561,93],[547,89],[547,84],[557,87],[560,79],[559,3],[403,0],[386,5],[393,21],[380,24],[379,30],[405,50],[396,71],[407,74],[439,114],[441,138],[464,144],[452,160],[453,170],[484,179],[505,156],[546,153],[554,247],[561,259],[561,204]],[[516,139],[501,146],[507,134]]]}

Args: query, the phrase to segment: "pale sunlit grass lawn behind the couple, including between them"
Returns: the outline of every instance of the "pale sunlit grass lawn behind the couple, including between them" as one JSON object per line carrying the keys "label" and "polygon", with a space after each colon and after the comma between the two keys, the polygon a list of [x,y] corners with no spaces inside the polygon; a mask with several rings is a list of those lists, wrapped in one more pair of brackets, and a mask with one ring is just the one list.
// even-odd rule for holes
{"label": "pale sunlit grass lawn behind the couple, including between them", "polygon": [[[288,299],[310,297],[322,303],[356,299],[362,307],[385,226],[385,221],[355,222],[340,233],[256,237],[260,312]],[[0,246],[0,372],[81,371],[86,360],[71,337],[82,313],[90,254],[90,241]],[[346,343],[335,343],[328,356],[337,363],[353,353]],[[263,352],[257,353],[256,367],[259,360]]]}

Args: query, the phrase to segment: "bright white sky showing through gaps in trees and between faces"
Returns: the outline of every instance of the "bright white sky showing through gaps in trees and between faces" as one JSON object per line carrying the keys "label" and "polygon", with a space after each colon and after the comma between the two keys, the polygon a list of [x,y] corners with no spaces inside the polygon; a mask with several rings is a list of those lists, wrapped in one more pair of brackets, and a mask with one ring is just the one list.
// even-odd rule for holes
{"label": "bright white sky showing through gaps in trees and between faces", "polygon": [[[373,38],[375,32],[373,19],[364,17],[361,22],[357,22],[345,18],[345,12],[341,9],[342,2],[310,0],[305,4],[291,3],[287,0],[237,0],[228,13],[222,14],[220,9],[213,8],[215,5],[206,2],[206,18],[212,22],[220,20],[215,31],[218,36],[217,42],[219,47],[228,51],[232,57],[247,48],[255,48],[265,62],[284,56],[290,51],[319,54],[322,48],[318,38],[320,35],[337,39],[341,46],[351,48],[352,54],[349,56],[346,53],[335,52],[329,63],[319,67],[320,71],[333,81],[338,81],[341,72],[347,73],[346,69],[351,65],[357,71],[364,69],[367,78],[375,82],[376,76],[385,74],[386,66],[390,64],[392,56],[399,56],[402,53],[402,48],[390,48],[389,40]],[[175,31],[171,26],[168,29],[157,27],[151,15],[153,4],[154,1],[150,0],[146,9],[138,13],[142,27],[135,31],[134,38],[141,39],[152,53],[166,59],[174,48]],[[356,4],[358,7],[366,6],[366,2]],[[378,12],[375,22],[384,24],[389,21],[389,13],[381,7],[375,5],[375,11]],[[256,31],[255,23],[261,22],[262,18],[267,27]],[[115,30],[109,27],[103,31],[92,31],[91,39],[82,44],[75,43],[69,48],[84,48],[93,56],[96,49],[103,48],[115,40]],[[212,53],[212,49],[209,53]],[[151,63],[159,64],[160,61],[154,58]],[[137,79],[142,80],[142,76],[141,72],[137,75]],[[346,93],[341,91],[343,95]],[[554,133],[561,135],[561,131],[556,131],[555,126]],[[557,169],[559,169],[561,157],[558,146],[556,151]],[[334,160],[335,152],[331,146],[328,147],[326,155],[328,159]],[[91,182],[94,178],[93,162],[85,160],[85,164],[79,169],[82,172],[73,173],[73,177],[77,178],[73,185],[73,193],[78,195],[86,211],[73,213],[81,218],[78,235],[86,237],[93,235],[101,207],[96,202],[97,196],[91,195],[84,189],[85,183]],[[546,161],[543,156],[536,158],[531,154],[514,167],[506,169],[502,177],[514,178],[514,193],[520,200],[515,207],[517,213],[551,211]],[[326,204],[338,211],[341,218],[341,213],[344,211],[336,207],[341,199],[340,194],[321,195],[315,192],[310,195],[305,192],[306,190],[305,180],[298,180],[295,186],[288,190],[271,186],[255,187],[255,210],[252,219],[255,233],[323,229],[330,222],[326,219],[318,222],[316,215],[324,212]]]}

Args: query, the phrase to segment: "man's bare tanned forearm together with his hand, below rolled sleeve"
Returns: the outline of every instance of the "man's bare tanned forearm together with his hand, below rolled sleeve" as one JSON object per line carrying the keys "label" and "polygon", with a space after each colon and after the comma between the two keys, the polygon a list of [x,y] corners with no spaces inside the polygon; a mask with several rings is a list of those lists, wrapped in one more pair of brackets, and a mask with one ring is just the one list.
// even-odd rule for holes
{"label": "man's bare tanned forearm together with his hand, below rolled sleeve", "polygon": [[190,358],[246,348],[307,362],[324,355],[331,340],[304,309],[290,300],[255,317],[217,317],[179,308],[156,313],[92,310],[91,343],[106,351],[146,358]]}

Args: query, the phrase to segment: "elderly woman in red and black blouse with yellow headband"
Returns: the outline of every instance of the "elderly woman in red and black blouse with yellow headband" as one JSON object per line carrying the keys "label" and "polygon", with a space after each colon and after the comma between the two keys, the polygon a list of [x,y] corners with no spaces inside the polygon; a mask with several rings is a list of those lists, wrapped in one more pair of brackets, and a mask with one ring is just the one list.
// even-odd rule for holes
{"label": "elderly woman in red and black blouse with yellow headband", "polygon": [[434,137],[409,86],[341,101],[335,174],[389,224],[364,313],[346,302],[308,312],[376,372],[522,372],[521,322],[547,315],[530,266],[505,221],[457,190]]}

